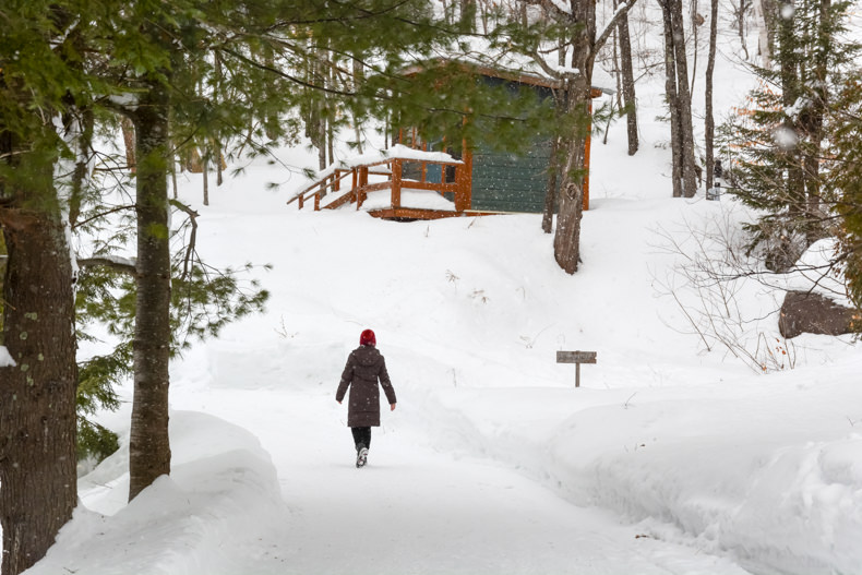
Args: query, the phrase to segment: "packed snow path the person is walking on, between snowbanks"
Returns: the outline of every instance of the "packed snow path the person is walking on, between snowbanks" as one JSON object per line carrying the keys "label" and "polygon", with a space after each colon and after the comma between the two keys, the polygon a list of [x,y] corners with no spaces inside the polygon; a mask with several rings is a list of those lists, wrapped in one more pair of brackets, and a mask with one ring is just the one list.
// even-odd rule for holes
{"label": "packed snow path the person is walking on, between snowbanks", "polygon": [[[369,466],[330,390],[205,391],[206,409],[261,440],[290,510],[282,540],[262,541],[255,573],[744,573],[585,510],[493,462],[424,444],[399,410],[374,430]],[[402,394],[403,396],[408,394]],[[339,418],[342,421],[339,421]]]}

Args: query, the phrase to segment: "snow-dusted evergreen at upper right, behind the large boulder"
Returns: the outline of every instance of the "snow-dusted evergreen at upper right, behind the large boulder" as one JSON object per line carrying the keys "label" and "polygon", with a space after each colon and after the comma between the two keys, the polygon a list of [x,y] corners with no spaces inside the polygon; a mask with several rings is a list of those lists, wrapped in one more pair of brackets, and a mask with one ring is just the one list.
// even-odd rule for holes
{"label": "snow-dusted evergreen at upper right, behind the large boulder", "polygon": [[822,172],[826,122],[837,110],[830,92],[858,46],[842,35],[848,4],[786,0],[773,14],[774,67],[756,68],[761,87],[752,109],[722,127],[739,146],[732,193],[763,212],[749,225],[751,248],[766,265],[793,265],[814,241],[830,235],[830,206]]}

